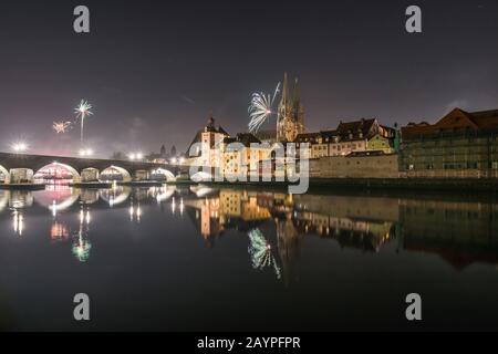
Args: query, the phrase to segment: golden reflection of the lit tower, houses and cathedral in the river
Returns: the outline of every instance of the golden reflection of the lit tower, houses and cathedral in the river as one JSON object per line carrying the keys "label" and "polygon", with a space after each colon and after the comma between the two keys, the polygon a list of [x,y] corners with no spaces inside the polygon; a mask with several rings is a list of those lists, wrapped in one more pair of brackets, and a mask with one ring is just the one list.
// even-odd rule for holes
{"label": "golden reflection of the lit tower, houses and cathedral in the river", "polygon": [[[307,235],[329,237],[343,247],[364,251],[378,251],[382,244],[391,240],[398,215],[397,199],[367,199],[310,195],[291,197],[286,194],[221,189],[217,197],[189,199],[186,206],[189,215],[195,212],[195,222],[209,246],[227,229],[247,231],[252,236],[250,254],[253,263],[256,256],[263,260],[261,264],[270,260],[271,264],[277,263],[271,258],[264,258],[272,254],[262,252],[262,244],[271,244],[272,238],[262,242],[255,233],[255,230],[261,230],[258,226],[264,222],[274,225],[278,262],[282,264],[287,282],[293,273],[293,263],[299,258],[299,249]],[[280,277],[280,269],[278,274]]]}

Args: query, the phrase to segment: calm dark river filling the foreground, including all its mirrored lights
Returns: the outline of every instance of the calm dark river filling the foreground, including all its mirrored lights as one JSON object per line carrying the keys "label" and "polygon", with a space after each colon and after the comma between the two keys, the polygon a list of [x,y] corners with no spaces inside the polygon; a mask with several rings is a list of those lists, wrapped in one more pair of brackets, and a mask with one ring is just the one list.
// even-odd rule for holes
{"label": "calm dark river filling the foreground, including all its mirrored lights", "polygon": [[498,330],[497,266],[489,197],[0,190],[3,331]]}

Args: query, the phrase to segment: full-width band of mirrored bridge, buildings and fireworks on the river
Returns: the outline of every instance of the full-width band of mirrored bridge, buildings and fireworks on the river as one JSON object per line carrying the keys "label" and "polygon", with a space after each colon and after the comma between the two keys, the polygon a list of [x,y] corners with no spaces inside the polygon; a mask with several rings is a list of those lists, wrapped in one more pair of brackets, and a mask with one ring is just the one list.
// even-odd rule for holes
{"label": "full-width band of mirrored bridge, buildings and fireworks on the river", "polygon": [[372,253],[394,242],[397,252],[438,254],[455,269],[475,262],[498,264],[498,207],[494,201],[289,196],[203,185],[110,189],[55,185],[44,191],[0,191],[0,218],[9,216],[13,235],[25,235],[30,210],[44,210],[51,218],[49,239],[71,240],[72,253],[81,262],[90,259],[94,214],[113,209],[139,225],[146,209],[157,206],[162,212],[180,219],[187,216],[186,222],[194,222],[208,248],[215,247],[228,230],[241,232],[247,237],[252,268],[271,271],[277,279],[292,275],[307,237]]}

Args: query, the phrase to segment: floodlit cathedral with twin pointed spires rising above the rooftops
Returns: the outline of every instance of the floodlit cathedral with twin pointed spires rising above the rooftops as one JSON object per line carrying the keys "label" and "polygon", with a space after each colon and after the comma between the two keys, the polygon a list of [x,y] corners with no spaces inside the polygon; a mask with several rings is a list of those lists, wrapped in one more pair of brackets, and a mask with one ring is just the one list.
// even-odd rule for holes
{"label": "floodlit cathedral with twin pointed spires rising above the rooftops", "polygon": [[302,133],[304,133],[304,110],[301,105],[298,79],[295,79],[294,87],[290,93],[286,73],[277,119],[277,140],[294,142],[295,137]]}

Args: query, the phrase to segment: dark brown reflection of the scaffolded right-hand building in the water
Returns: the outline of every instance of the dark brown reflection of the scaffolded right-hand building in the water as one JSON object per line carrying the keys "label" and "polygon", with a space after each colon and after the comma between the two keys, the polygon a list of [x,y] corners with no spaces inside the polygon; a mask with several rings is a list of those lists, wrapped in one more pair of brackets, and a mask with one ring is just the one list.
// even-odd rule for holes
{"label": "dark brown reflection of the scaffolded right-hand building in the water", "polygon": [[491,202],[401,200],[403,248],[436,253],[457,269],[498,264],[498,206]]}

